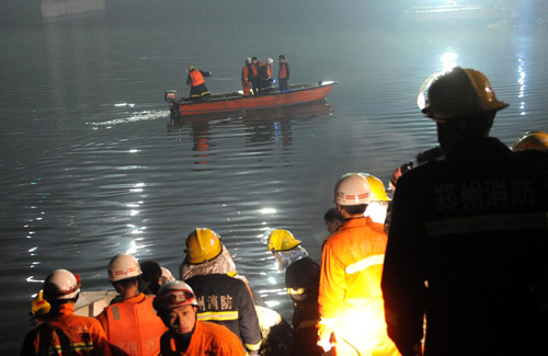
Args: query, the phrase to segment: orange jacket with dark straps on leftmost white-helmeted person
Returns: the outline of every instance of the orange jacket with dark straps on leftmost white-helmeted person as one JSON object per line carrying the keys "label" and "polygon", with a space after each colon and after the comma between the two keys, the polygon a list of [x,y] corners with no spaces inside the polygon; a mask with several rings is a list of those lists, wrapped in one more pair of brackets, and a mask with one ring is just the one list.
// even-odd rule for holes
{"label": "orange jacket with dark straps on leftmost white-helmeted person", "polygon": [[58,314],[32,329],[21,355],[111,355],[101,323],[94,318],[75,315],[73,311],[73,303],[62,305]]}

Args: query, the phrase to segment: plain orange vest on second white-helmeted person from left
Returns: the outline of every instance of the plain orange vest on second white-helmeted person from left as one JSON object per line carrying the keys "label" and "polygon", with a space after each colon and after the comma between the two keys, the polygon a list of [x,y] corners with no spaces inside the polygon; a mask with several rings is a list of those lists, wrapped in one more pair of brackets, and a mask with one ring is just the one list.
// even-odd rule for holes
{"label": "plain orange vest on second white-helmeted person from left", "polygon": [[144,294],[106,307],[98,315],[106,338],[127,355],[158,355],[160,336],[168,330],[152,307],[153,298]]}

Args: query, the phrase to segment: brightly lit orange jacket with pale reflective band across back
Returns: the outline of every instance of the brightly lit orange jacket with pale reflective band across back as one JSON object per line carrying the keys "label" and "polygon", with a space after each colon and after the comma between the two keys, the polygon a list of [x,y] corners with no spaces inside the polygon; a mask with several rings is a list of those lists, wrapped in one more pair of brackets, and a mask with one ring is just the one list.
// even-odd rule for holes
{"label": "brightly lit orange jacket with pale reflective band across back", "polygon": [[321,256],[320,315],[335,318],[383,301],[380,277],[387,237],[370,218],[346,220],[328,238]]}

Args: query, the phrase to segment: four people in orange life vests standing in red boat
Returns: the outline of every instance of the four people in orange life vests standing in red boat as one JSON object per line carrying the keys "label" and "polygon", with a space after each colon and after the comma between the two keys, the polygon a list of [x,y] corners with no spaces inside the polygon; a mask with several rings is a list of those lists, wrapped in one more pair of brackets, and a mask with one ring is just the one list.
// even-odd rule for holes
{"label": "four people in orange life vests standing in red boat", "polygon": [[[272,65],[274,59],[266,58],[264,64],[256,57],[246,58],[246,64],[241,71],[241,87],[243,96],[260,95],[271,93],[274,90],[275,80],[272,78]],[[289,89],[289,62],[285,55],[278,56],[278,90]],[[189,67],[186,85],[191,87],[190,99],[194,102],[206,101],[210,97],[210,92],[205,85],[204,77],[212,77],[213,72]]]}

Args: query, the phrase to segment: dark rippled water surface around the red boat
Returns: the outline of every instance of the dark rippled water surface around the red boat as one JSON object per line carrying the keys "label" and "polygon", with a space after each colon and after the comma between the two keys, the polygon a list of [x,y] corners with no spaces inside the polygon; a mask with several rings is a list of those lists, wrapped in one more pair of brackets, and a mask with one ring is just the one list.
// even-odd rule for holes
{"label": "dark rippled water surface around the red boat", "polygon": [[[511,104],[493,136],[511,145],[548,130],[548,46],[538,28],[349,24],[336,13],[324,24],[293,20],[101,18],[0,32],[2,354],[20,348],[31,297],[52,269],[79,273],[84,290],[107,288],[109,260],[129,252],[178,275],[195,227],[219,232],[251,287],[290,318],[265,234],[289,229],[319,260],[335,181],[359,171],[387,183],[435,143],[415,95],[444,54],[482,70]],[[339,81],[329,102],[170,125],[163,91],[187,94],[187,66],[214,72],[212,92],[233,91],[244,57],[279,54],[292,82]]]}

